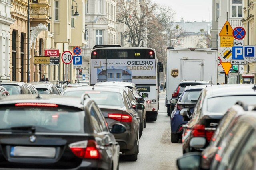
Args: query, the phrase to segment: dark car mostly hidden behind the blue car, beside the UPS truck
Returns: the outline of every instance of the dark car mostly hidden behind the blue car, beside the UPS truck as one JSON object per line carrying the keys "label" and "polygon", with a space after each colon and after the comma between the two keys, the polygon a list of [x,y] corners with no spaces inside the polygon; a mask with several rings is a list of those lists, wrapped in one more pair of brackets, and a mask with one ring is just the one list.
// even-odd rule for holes
{"label": "dark car mostly hidden behind the blue car, beside the UPS truck", "polygon": [[[211,81],[188,81],[188,80],[182,80],[180,84],[177,86],[176,90],[172,93],[172,99],[177,99],[182,92],[184,91],[186,86],[196,86],[200,84],[212,84]],[[166,85],[165,85],[166,86]],[[172,111],[174,110],[175,104],[170,104],[170,110],[167,109],[167,115],[170,116]]]}

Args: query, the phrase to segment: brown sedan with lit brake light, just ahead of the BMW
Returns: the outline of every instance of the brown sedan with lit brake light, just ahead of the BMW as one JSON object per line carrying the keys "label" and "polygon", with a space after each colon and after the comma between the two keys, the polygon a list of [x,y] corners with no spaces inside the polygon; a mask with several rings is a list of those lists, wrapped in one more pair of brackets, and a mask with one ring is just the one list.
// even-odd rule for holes
{"label": "brown sedan with lit brake light, just ahead of the BMW", "polygon": [[144,109],[144,105],[136,104],[134,108],[123,89],[106,86],[66,88],[61,95],[81,96],[84,93],[98,104],[110,129],[115,123],[121,123],[126,127],[125,133],[114,136],[120,145],[120,152],[124,153],[128,160],[137,160],[140,117],[136,110]]}

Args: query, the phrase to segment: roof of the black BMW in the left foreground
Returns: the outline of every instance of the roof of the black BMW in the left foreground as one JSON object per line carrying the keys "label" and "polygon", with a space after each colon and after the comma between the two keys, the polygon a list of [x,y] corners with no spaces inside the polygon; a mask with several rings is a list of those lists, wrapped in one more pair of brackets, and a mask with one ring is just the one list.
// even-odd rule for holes
{"label": "roof of the black BMW in the left foreground", "polygon": [[[73,98],[73,99],[72,99]],[[15,104],[15,103],[52,103],[66,106],[74,106],[82,108],[81,100],[78,97],[60,96],[49,94],[23,94],[23,95],[10,95],[0,99],[1,104]]]}

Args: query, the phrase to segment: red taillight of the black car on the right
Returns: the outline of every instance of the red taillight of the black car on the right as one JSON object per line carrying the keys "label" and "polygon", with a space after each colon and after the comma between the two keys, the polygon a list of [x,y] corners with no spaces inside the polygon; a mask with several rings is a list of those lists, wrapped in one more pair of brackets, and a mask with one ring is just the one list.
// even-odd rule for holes
{"label": "red taillight of the black car on the right", "polygon": [[196,124],[192,128],[192,135],[195,137],[206,137],[207,141],[212,139],[214,131],[213,130],[205,130],[205,126],[201,124]]}

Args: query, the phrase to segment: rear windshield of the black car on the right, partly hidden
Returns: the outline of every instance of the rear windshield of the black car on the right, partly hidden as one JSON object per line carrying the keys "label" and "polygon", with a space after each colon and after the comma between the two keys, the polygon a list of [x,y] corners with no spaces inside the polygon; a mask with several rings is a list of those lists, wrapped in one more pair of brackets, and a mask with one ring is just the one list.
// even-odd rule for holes
{"label": "rear windshield of the black car on the right, partly hidden", "polygon": [[[245,104],[255,104],[256,96],[220,96],[207,100],[207,111],[215,113],[225,113],[237,101]],[[205,105],[206,106],[206,105]]]}

